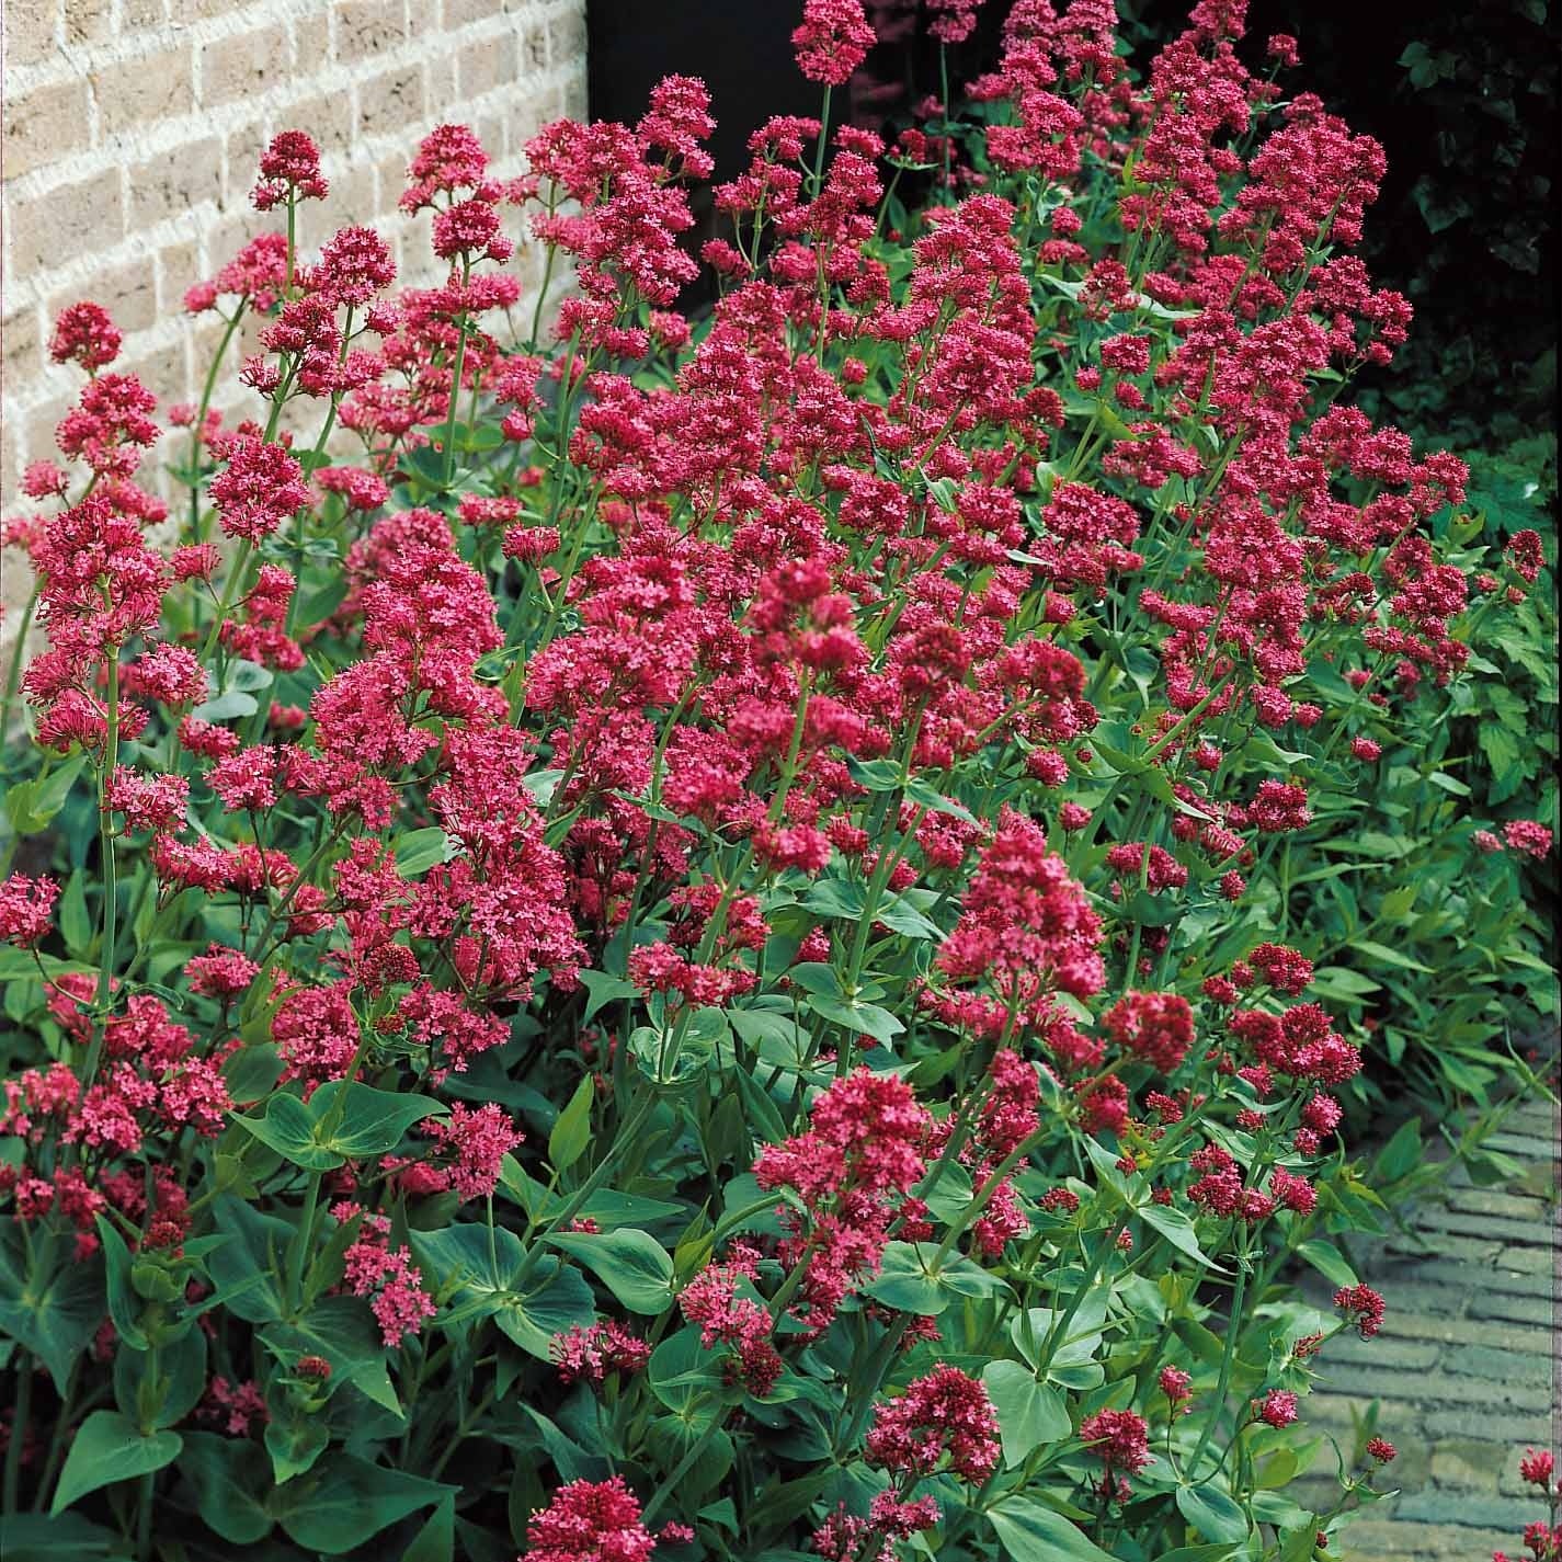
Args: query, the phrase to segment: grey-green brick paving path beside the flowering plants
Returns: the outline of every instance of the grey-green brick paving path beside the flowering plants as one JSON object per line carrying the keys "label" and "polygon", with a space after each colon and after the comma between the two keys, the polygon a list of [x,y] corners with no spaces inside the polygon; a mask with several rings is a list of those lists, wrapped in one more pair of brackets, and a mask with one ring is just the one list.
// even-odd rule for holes
{"label": "grey-green brick paving path beside the flowering plants", "polygon": [[[1520,1532],[1545,1507],[1526,1495],[1518,1459],[1526,1443],[1557,1448],[1562,1423],[1557,1142],[1556,1107],[1525,1103],[1489,1140],[1521,1176],[1476,1189],[1457,1172],[1412,1212],[1410,1236],[1351,1243],[1389,1315],[1373,1340],[1329,1343],[1307,1421],[1350,1457],[1353,1407],[1359,1417],[1376,1400],[1378,1431],[1400,1450],[1389,1470],[1400,1495],[1340,1529],[1348,1562],[1528,1554]],[[1328,1287],[1315,1300],[1328,1307]],[[1315,1470],[1332,1460],[1325,1446]],[[1317,1496],[1329,1501],[1321,1487]]]}

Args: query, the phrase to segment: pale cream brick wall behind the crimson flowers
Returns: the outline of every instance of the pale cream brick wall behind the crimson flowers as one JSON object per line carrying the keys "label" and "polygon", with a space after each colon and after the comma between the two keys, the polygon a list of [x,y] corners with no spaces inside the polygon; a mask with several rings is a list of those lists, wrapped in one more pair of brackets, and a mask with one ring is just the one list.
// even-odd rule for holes
{"label": "pale cream brick wall behind the crimson flowers", "polygon": [[[419,137],[472,125],[495,172],[550,119],[586,111],[584,0],[3,0],[0,508],[80,387],[47,359],[55,314],[92,298],[125,331],[116,369],[167,405],[194,400],[220,326],[184,316],[275,214],[250,209],[278,130],[325,153],[326,203],[303,242],[369,223],[398,273],[433,276],[428,217],[395,211]],[[515,225],[511,228],[512,236]],[[536,278],[523,247],[523,281]],[[231,359],[237,364],[237,356]],[[230,392],[237,395],[239,392]],[[219,394],[217,405],[226,405]],[[156,453],[155,453],[156,455]],[[5,569],[6,629],[28,584]],[[0,633],[0,644],[8,640]]]}

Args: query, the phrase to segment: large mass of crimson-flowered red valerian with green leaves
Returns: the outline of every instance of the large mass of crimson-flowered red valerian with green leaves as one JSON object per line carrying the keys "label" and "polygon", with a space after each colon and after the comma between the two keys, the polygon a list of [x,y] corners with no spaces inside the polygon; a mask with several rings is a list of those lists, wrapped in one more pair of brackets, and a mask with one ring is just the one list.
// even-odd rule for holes
{"label": "large mass of crimson-flowered red valerian with green leaves", "polygon": [[[166,423],[61,316],[6,531],[9,1543],[1298,1559],[1371,1500],[1284,1490],[1385,1307],[1331,1006],[1396,953],[1340,964],[1331,853],[1545,561],[1342,398],[1409,320],[1350,253],[1382,153],[1242,12],[1136,73],[1018,0],[964,120],[761,127],[700,259],[692,78],[515,181],[434,130],[431,287],[287,131]],[[795,42],[833,89],[873,34]],[[1428,790],[1462,904],[1550,851]]]}

